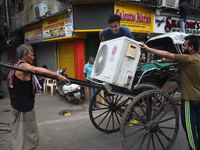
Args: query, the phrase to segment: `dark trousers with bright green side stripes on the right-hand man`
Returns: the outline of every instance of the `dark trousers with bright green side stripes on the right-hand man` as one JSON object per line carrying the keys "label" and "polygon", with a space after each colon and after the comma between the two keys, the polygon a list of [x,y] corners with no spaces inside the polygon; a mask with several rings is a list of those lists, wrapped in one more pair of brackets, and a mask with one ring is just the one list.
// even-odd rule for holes
{"label": "dark trousers with bright green side stripes on the right-hand man", "polygon": [[191,150],[200,150],[200,101],[181,100],[181,121]]}

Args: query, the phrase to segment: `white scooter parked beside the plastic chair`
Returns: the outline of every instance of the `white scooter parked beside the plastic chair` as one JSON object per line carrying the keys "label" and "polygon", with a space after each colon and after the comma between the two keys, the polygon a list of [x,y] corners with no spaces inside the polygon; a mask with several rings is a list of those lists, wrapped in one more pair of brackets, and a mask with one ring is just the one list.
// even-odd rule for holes
{"label": "white scooter parked beside the plastic chair", "polygon": [[[59,70],[57,70],[57,73],[67,77],[68,75],[64,74],[66,69],[67,68],[59,69]],[[79,103],[79,101],[82,101],[80,90],[81,90],[81,87],[78,84],[69,84],[69,83],[65,84],[65,83],[62,83],[59,81],[56,82],[57,93],[60,96],[62,96],[63,98],[66,97],[69,101],[74,102],[74,104],[76,104],[76,105]]]}

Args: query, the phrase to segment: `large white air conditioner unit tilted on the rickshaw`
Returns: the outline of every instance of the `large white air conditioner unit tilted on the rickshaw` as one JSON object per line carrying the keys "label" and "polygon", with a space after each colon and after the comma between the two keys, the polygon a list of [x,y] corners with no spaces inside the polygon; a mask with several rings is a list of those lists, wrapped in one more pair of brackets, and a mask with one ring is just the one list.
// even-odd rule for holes
{"label": "large white air conditioner unit tilted on the rickshaw", "polygon": [[140,53],[139,42],[125,36],[101,42],[91,78],[131,89]]}

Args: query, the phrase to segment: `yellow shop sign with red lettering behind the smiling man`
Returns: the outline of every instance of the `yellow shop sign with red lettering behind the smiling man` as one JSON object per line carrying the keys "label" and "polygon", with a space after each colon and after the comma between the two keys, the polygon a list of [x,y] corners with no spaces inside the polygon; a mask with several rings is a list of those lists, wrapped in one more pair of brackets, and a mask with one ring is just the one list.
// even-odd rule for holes
{"label": "yellow shop sign with red lettering behind the smiling man", "polygon": [[121,26],[128,27],[131,32],[153,33],[153,8],[115,2],[114,13],[121,17]]}

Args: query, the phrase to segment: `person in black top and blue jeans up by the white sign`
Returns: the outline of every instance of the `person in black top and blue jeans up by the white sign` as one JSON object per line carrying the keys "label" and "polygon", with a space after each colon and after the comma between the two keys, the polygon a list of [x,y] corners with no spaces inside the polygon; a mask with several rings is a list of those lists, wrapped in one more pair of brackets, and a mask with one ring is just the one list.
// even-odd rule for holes
{"label": "person in black top and blue jeans up by the white sign", "polygon": [[185,33],[185,22],[187,19],[188,11],[189,11],[188,3],[186,2],[186,0],[181,0],[181,4],[179,6],[179,14],[180,14],[179,23],[181,27],[181,32],[183,33]]}

